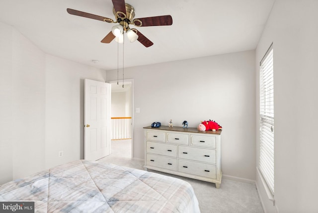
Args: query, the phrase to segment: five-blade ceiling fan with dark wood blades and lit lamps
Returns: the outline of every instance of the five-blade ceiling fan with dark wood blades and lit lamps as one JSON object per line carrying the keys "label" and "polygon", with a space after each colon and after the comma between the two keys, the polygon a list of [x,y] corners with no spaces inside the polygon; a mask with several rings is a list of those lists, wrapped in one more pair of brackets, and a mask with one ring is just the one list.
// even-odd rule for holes
{"label": "five-blade ceiling fan with dark wood blades and lit lamps", "polygon": [[82,12],[75,9],[67,8],[68,13],[72,15],[78,15],[86,18],[92,18],[100,21],[105,21],[108,23],[119,23],[112,27],[110,31],[102,40],[102,43],[110,43],[114,38],[117,42],[121,42],[123,39],[123,33],[127,33],[127,37],[130,42],[138,40],[145,47],[150,47],[154,43],[144,36],[140,31],[129,27],[129,24],[133,24],[136,27],[145,27],[145,26],[162,26],[162,25],[171,25],[172,17],[171,15],[160,15],[153,17],[145,18],[135,18],[135,9],[132,5],[125,3],[125,0],[112,0],[114,8],[113,13],[115,15],[115,21],[111,18],[90,14],[87,12]]}

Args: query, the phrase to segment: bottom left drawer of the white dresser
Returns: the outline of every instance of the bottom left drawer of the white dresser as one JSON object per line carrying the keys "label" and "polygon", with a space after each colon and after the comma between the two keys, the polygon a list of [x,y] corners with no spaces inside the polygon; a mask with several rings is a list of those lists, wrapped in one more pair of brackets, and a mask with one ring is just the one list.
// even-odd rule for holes
{"label": "bottom left drawer of the white dresser", "polygon": [[147,154],[147,165],[177,171],[177,159]]}

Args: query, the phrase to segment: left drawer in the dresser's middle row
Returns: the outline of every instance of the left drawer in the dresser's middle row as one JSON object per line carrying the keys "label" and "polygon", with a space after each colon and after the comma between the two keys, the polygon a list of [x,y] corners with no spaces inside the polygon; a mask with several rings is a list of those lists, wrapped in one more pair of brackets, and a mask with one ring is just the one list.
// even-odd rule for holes
{"label": "left drawer in the dresser's middle row", "polygon": [[147,153],[177,157],[177,145],[147,141]]}

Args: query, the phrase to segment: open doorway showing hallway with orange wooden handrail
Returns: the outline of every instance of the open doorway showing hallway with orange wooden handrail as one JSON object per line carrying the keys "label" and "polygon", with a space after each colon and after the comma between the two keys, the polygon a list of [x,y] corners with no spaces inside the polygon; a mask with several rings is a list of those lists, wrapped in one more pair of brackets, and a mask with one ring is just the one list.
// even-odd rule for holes
{"label": "open doorway showing hallway with orange wooden handrail", "polygon": [[111,155],[133,159],[133,79],[111,84]]}

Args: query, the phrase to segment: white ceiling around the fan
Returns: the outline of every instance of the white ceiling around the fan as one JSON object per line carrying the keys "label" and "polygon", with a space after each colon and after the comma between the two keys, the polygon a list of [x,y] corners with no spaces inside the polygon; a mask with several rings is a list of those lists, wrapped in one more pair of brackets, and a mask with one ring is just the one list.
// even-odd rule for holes
{"label": "white ceiling around the fan", "polygon": [[[170,14],[173,24],[139,27],[154,45],[146,48],[138,41],[125,42],[124,66],[253,50],[274,1],[126,0],[135,8],[135,18]],[[70,15],[67,8],[114,19],[111,0],[0,0],[0,21],[12,25],[45,53],[117,69],[117,42],[100,42],[115,24]]]}

